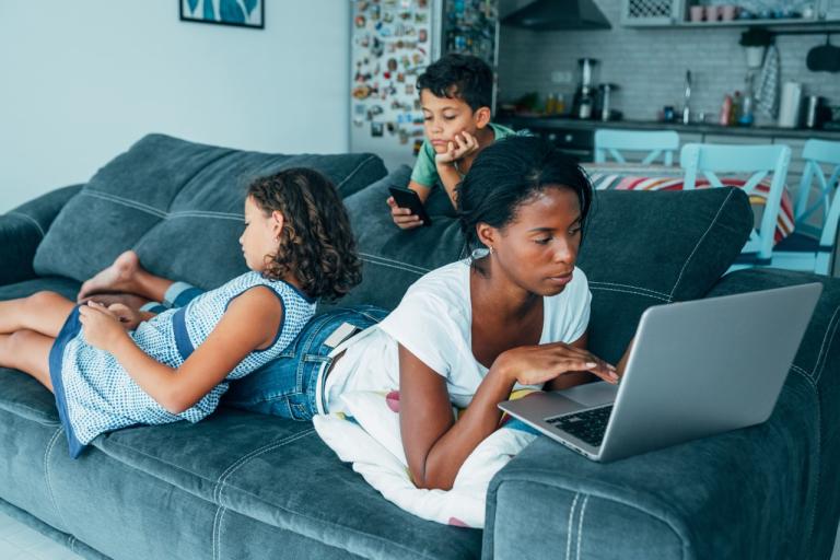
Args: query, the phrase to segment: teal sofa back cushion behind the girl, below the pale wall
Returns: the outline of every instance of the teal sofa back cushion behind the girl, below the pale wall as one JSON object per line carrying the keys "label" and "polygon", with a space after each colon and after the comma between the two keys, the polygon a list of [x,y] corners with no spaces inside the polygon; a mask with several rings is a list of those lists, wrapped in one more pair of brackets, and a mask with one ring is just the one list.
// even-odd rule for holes
{"label": "teal sofa back cushion behind the girl, below the pale wall", "polygon": [[38,275],[83,281],[133,248],[152,272],[214,288],[247,269],[238,237],[256,177],[312,167],[342,197],[387,172],[372,154],[268,154],[149,135],[102,167],[38,246]]}

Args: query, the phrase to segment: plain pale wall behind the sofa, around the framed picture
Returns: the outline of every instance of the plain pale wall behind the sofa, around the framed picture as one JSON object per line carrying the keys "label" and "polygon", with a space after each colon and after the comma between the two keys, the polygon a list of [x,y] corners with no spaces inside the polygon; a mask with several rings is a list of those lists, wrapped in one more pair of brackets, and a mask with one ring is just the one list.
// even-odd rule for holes
{"label": "plain pale wall behind the sofa, around the framed picture", "polygon": [[0,213],[148,132],[343,152],[346,0],[265,0],[266,28],[180,22],[178,0],[0,0]]}

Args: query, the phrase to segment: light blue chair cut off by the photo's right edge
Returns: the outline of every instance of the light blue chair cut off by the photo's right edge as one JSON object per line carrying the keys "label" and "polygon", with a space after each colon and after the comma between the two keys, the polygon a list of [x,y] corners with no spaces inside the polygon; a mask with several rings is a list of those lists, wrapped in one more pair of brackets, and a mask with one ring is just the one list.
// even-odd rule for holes
{"label": "light blue chair cut off by the photo's right edge", "polygon": [[794,207],[795,230],[773,248],[773,266],[829,275],[840,219],[840,142],[808,140],[802,159],[805,167]]}

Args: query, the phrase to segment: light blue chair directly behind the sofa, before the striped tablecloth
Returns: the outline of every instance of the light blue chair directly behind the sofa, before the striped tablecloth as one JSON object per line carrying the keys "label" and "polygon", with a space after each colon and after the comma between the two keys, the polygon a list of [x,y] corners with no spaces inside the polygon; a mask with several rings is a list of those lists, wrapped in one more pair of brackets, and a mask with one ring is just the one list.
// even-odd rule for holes
{"label": "light blue chair directly behind the sofa, before the striped tablecloth", "polygon": [[749,174],[749,177],[738,186],[750,197],[750,201],[755,202],[763,198],[763,196],[757,197],[757,191],[759,188],[768,189],[765,179],[772,174],[761,219],[749,234],[749,240],[731,270],[771,264],[775,228],[790,162],[791,149],[784,144],[689,143],[682,147],[679,164],[685,171],[682,188],[686,190],[697,186],[698,177],[705,178],[711,187],[724,187],[726,185],[721,182],[718,174],[726,173],[730,176]]}

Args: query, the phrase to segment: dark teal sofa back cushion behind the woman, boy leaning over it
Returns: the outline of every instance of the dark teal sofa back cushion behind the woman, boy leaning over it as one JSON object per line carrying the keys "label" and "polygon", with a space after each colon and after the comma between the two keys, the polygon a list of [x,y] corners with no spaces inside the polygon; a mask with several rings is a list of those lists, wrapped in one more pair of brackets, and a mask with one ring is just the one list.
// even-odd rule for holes
{"label": "dark teal sofa back cushion behind the woman, boy leaning over it", "polygon": [[[405,185],[408,177],[407,167],[396,170],[346,199],[364,275],[339,305],[393,308],[422,275],[466,256],[452,215],[432,215],[429,228],[394,225],[385,208],[387,186]],[[596,191],[578,260],[593,294],[590,348],[617,361],[644,310],[703,296],[737,257],[752,220],[749,199],[734,188]]]}

